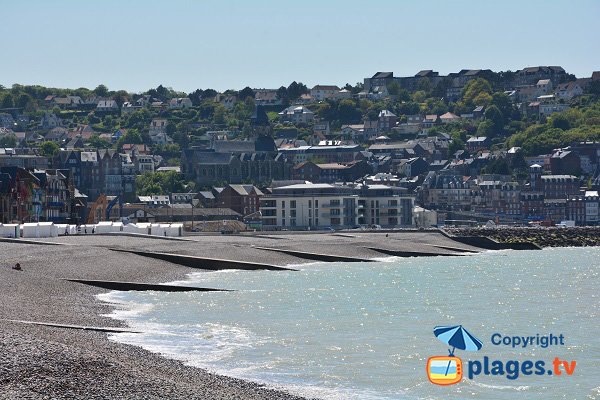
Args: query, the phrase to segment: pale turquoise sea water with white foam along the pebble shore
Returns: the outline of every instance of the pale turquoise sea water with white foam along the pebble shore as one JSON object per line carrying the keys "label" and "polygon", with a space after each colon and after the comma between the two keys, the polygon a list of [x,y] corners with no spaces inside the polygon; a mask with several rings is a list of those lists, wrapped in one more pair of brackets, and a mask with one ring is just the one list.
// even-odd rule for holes
{"label": "pale turquoise sea water with white foam along the pebble shore", "polygon": [[[217,373],[327,399],[600,399],[600,248],[314,263],[287,271],[192,273],[177,284],[232,292],[111,292],[113,317],[140,334],[112,340]],[[429,382],[449,346],[433,328],[462,325],[483,342],[456,350],[465,377]],[[563,335],[511,347],[502,336]],[[572,375],[468,379],[467,363],[576,361]]]}

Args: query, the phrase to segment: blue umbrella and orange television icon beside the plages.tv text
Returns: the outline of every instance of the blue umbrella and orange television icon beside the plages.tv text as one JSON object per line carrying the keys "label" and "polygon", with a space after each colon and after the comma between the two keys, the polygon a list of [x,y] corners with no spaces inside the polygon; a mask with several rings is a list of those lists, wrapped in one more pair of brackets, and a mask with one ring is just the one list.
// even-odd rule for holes
{"label": "blue umbrella and orange television icon beside the plages.tv text", "polygon": [[454,356],[456,349],[477,351],[483,343],[471,335],[462,325],[436,326],[433,334],[442,342],[452,347],[447,356],[433,356],[427,360],[427,377],[436,385],[454,385],[462,380],[463,364]]}

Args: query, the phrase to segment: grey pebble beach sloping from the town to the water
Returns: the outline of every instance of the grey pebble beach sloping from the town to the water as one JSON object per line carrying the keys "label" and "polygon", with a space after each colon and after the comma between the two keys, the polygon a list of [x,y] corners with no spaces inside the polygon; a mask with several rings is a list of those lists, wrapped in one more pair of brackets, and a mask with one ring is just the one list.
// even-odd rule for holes
{"label": "grey pebble beach sloping from the town to the water", "polygon": [[[0,242],[0,399],[297,398],[108,341],[103,332],[15,322],[127,328],[106,317],[111,307],[95,298],[107,289],[70,280],[159,284],[198,271],[203,257],[302,268],[314,262],[315,255],[357,261],[387,257],[377,249],[403,256],[481,251],[439,232],[418,231],[197,235],[181,240],[72,235],[35,241]],[[198,257],[200,266],[123,250]],[[17,262],[22,271],[11,269]]]}

